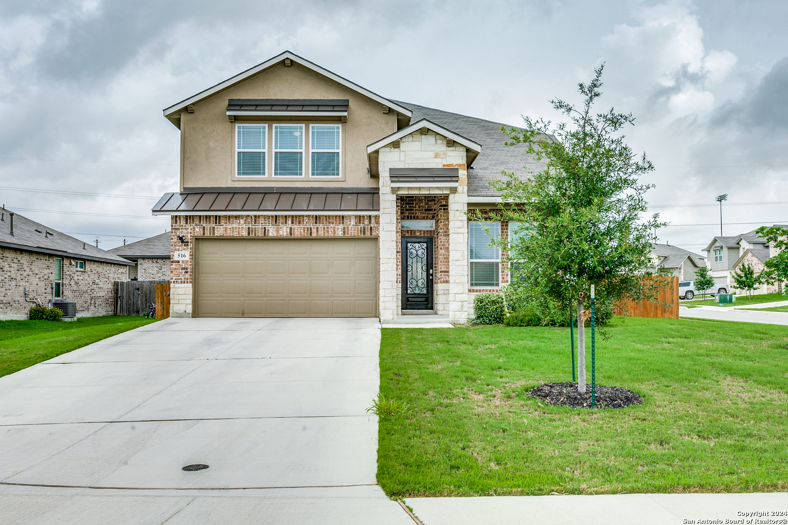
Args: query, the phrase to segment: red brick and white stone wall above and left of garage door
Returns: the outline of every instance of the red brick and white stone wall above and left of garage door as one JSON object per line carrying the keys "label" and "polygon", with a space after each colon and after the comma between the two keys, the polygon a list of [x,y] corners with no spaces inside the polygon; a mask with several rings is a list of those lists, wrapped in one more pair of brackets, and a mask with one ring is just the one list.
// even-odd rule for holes
{"label": "red brick and white stone wall above and left of garage door", "polygon": [[[195,237],[377,237],[376,215],[175,215],[170,247],[188,251],[171,261],[169,315],[191,317]],[[184,237],[180,242],[178,236]]]}

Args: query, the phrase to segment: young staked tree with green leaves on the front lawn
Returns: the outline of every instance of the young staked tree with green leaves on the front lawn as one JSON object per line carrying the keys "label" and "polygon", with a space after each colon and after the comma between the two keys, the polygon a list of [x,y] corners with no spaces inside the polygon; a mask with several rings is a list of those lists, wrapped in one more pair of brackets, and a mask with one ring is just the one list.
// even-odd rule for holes
{"label": "young staked tree with green leaves on the front lawn", "polygon": [[[656,298],[657,278],[642,279],[652,266],[651,249],[656,219],[639,222],[647,211],[644,198],[651,186],[638,178],[652,171],[652,163],[623,142],[621,128],[633,124],[631,113],[593,113],[602,94],[602,71],[578,88],[585,97],[575,108],[563,100],[553,108],[571,121],[552,128],[545,120],[524,116],[525,126],[502,128],[508,146],[525,146],[546,167],[523,181],[507,173],[492,183],[500,190],[497,215],[522,224],[519,238],[499,246],[518,261],[515,287],[542,294],[567,308],[577,301],[578,390],[585,392],[585,301],[591,284],[597,301],[608,304],[626,298]],[[480,216],[481,217],[481,216]]]}

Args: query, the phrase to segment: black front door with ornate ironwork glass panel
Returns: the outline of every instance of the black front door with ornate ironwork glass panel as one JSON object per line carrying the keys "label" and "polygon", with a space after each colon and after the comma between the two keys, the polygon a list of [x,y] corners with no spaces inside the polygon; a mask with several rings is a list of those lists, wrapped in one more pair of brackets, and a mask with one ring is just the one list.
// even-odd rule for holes
{"label": "black front door with ornate ironwork glass panel", "polygon": [[402,309],[433,309],[433,239],[402,239]]}

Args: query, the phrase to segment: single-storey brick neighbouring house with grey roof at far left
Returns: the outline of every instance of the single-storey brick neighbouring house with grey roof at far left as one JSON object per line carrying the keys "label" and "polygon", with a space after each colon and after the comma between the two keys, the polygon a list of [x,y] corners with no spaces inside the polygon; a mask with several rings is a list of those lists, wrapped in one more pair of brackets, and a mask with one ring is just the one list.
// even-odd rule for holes
{"label": "single-storey brick neighbouring house with grey roof at far left", "polygon": [[0,320],[27,319],[35,301],[46,306],[52,299],[74,301],[77,317],[110,316],[113,282],[125,280],[132,264],[2,208]]}

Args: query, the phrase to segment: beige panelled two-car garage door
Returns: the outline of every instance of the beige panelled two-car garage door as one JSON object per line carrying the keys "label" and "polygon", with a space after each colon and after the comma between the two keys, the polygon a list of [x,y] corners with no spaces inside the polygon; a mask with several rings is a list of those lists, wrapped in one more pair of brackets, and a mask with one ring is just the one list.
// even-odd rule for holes
{"label": "beige panelled two-car garage door", "polygon": [[199,238],[195,316],[375,317],[376,238]]}

